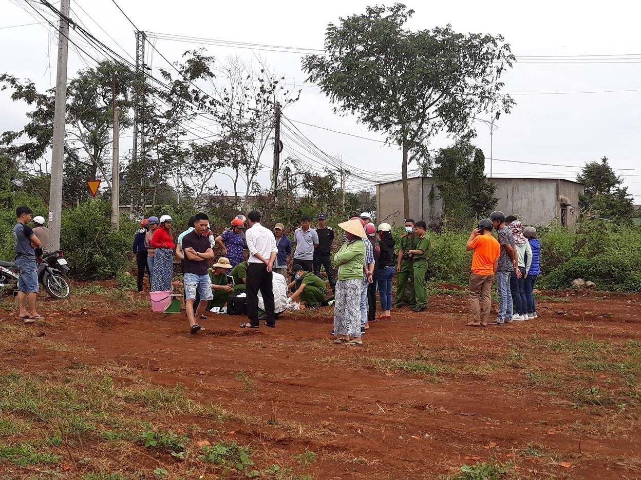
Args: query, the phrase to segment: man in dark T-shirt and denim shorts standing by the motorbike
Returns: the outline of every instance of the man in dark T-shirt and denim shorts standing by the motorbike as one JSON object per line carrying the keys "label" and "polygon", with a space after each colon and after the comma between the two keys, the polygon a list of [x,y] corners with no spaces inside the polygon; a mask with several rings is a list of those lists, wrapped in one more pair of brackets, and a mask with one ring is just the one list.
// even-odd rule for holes
{"label": "man in dark T-shirt and denim shorts standing by the motorbike", "polygon": [[25,205],[15,209],[16,223],[13,227],[13,250],[15,264],[18,266],[18,316],[25,324],[35,323],[36,319],[44,318],[36,311],[38,298],[38,266],[36,264],[35,248],[40,246],[40,240],[33,233],[28,223],[31,222],[33,211]]}

